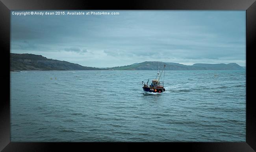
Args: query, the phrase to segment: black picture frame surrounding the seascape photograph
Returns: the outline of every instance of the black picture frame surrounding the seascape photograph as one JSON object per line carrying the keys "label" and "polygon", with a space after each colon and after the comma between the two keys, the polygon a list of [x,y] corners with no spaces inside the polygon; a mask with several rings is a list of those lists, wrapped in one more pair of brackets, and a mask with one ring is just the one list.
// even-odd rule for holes
{"label": "black picture frame surrounding the seascape photograph", "polygon": [[[246,142],[207,143],[14,143],[10,142],[10,10],[246,10]],[[88,146],[124,150],[136,150],[132,146],[141,145],[148,149],[189,150],[189,151],[232,151],[249,152],[256,150],[256,106],[254,103],[254,56],[256,50],[256,2],[255,0],[1,0],[0,2],[0,45],[2,65],[2,91],[0,102],[0,150],[19,151],[60,151]],[[62,151],[61,150],[61,151]],[[118,150],[118,149],[117,149]],[[120,149],[123,150],[123,149]]]}

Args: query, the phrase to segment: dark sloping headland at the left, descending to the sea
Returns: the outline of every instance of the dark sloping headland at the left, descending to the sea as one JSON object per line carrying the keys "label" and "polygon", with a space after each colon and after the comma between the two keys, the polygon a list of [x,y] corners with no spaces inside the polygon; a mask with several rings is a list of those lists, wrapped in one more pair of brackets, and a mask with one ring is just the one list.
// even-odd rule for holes
{"label": "dark sloping headland at the left, descending to the sea", "polygon": [[10,64],[10,70],[104,70],[34,54],[10,53]]}

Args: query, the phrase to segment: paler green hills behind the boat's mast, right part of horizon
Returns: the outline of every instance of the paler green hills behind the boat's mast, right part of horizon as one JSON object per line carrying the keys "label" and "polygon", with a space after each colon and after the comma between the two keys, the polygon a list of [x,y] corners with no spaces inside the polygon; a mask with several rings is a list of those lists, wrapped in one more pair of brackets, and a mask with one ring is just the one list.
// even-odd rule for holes
{"label": "paler green hills behind the boat's mast, right part of horizon", "polygon": [[161,68],[166,64],[165,70],[244,70],[243,67],[236,63],[229,64],[202,64],[197,63],[192,66],[187,66],[184,64],[173,63],[173,62],[158,62],[158,61],[145,61],[141,63],[135,63],[127,66],[117,66],[113,70],[158,70],[158,66]]}

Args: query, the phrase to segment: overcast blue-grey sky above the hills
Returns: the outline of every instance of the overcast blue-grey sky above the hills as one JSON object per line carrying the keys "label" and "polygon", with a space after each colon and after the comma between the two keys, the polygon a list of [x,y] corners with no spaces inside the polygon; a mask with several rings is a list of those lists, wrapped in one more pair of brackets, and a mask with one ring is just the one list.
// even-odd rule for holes
{"label": "overcast blue-grey sky above the hills", "polygon": [[245,66],[245,11],[104,12],[119,15],[11,14],[11,53],[91,67],[144,61]]}

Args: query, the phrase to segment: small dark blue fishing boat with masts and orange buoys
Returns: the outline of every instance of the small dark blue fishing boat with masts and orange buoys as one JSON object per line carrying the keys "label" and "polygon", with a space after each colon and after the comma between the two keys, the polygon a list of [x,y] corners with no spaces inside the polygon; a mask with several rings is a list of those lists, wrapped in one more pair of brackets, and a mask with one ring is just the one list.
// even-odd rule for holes
{"label": "small dark blue fishing boat with masts and orange buoys", "polygon": [[[164,82],[165,65],[163,66],[163,70],[164,70],[164,74],[163,74],[163,82]],[[156,75],[156,79],[153,79],[152,83],[149,86],[148,86],[148,82],[147,82],[147,84],[145,84],[145,82],[142,81],[142,84],[144,83],[142,88],[145,92],[161,93],[161,92],[165,91],[165,88],[163,88],[163,82],[162,82],[162,85],[160,85],[160,79],[161,79],[161,75],[163,73],[163,70],[160,73],[160,68],[158,67],[158,72],[157,72],[157,75]],[[149,79],[148,79],[148,81],[149,81]]]}

